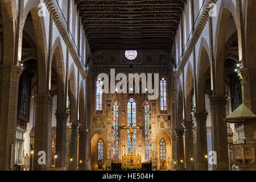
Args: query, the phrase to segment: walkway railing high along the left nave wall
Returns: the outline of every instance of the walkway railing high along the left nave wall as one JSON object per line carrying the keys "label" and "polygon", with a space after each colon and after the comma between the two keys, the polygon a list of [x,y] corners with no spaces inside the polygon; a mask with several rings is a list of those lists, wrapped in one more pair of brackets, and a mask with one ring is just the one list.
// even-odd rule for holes
{"label": "walkway railing high along the left nave wall", "polygon": [[73,47],[75,48],[76,54],[79,57],[79,61],[84,66],[84,68],[86,70],[84,60],[82,59],[82,57],[80,55],[79,48],[77,48],[77,46],[76,46],[75,39],[73,38],[72,33],[71,33],[71,31],[68,27],[68,23],[67,23],[67,20],[65,19],[64,15],[63,15],[63,11],[60,9],[59,2],[57,0],[53,0],[53,3],[56,6],[57,11],[59,11],[60,18],[61,18],[61,20],[63,20],[64,26],[65,26],[65,28],[68,32],[69,38],[71,38],[71,43],[72,43]]}

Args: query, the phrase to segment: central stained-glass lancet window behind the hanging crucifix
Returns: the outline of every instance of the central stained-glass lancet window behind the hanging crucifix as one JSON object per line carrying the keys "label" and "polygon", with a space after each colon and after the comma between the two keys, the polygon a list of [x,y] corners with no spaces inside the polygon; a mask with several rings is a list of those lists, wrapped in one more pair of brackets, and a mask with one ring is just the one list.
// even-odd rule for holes
{"label": "central stained-glass lancet window behind the hanging crucifix", "polygon": [[[134,98],[130,98],[127,104],[127,126],[130,127],[130,123],[133,123],[133,127],[136,127],[136,102]],[[134,130],[133,142],[130,140],[130,132],[127,130],[127,148],[128,153],[133,150],[134,154],[136,154],[136,130]]]}

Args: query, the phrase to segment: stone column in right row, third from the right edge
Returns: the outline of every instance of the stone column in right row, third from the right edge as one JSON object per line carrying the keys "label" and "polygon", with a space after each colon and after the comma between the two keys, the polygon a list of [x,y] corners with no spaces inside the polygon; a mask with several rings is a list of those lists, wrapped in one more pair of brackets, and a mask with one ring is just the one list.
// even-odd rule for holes
{"label": "stone column in right row, third from the right edge", "polygon": [[208,171],[207,152],[207,116],[208,113],[194,113],[196,118],[196,168],[198,171]]}

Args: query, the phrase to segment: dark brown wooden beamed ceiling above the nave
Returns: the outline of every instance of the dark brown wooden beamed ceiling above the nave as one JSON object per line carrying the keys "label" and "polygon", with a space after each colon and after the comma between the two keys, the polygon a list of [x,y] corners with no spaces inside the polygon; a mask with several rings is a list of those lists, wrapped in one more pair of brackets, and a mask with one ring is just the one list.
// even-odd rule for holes
{"label": "dark brown wooden beamed ceiling above the nave", "polygon": [[186,0],[75,0],[92,51],[172,47]]}

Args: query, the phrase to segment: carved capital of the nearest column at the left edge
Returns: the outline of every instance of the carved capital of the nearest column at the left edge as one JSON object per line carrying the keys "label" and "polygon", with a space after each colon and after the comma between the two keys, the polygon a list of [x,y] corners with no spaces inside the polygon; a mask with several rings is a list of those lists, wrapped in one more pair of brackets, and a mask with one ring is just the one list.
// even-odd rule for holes
{"label": "carved capital of the nearest column at the left edge", "polygon": [[0,65],[0,77],[2,81],[19,82],[23,69],[15,65]]}

